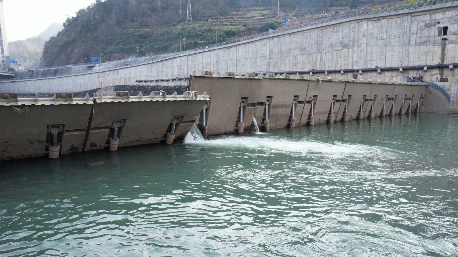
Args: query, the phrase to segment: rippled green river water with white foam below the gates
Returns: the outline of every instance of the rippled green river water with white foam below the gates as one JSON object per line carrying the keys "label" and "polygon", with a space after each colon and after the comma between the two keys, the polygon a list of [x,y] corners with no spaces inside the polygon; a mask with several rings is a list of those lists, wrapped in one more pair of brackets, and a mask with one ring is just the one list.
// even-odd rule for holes
{"label": "rippled green river water with white foam below the gates", "polygon": [[0,164],[0,256],[458,256],[458,118]]}

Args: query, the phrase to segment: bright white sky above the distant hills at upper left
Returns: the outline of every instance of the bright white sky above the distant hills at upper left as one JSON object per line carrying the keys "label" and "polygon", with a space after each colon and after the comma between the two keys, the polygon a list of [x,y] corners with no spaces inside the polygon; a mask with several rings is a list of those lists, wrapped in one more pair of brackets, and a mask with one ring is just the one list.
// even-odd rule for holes
{"label": "bright white sky above the distant hills at upper left", "polygon": [[37,36],[95,0],[3,0],[8,42]]}

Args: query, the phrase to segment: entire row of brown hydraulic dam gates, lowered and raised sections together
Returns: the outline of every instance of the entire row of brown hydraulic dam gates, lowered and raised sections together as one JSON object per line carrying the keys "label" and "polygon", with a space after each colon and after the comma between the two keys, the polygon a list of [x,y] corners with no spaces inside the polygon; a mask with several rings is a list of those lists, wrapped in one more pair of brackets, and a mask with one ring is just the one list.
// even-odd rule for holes
{"label": "entire row of brown hydraulic dam gates, lowered and raised sections together", "polygon": [[[112,96],[18,98],[0,93],[0,161],[419,112],[426,84],[233,72],[191,75],[182,96],[114,91]],[[197,96],[196,91],[207,91]]]}

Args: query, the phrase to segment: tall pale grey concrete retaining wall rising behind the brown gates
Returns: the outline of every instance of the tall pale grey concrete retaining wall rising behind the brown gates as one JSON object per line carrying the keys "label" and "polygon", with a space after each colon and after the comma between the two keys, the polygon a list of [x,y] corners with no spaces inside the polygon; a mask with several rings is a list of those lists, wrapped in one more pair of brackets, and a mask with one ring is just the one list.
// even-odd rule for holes
{"label": "tall pale grey concrete retaining wall rising behind the brown gates", "polygon": [[235,74],[327,72],[344,79],[382,81],[407,81],[408,76],[420,73],[423,81],[437,81],[443,89],[431,88],[431,99],[437,98],[441,104],[435,102],[423,110],[454,112],[458,111],[458,77],[452,65],[458,63],[458,6],[454,4],[353,17],[176,57],[126,61],[121,67],[119,62],[105,63],[81,75],[1,81],[0,91],[76,92],[166,78],[174,80],[153,83],[183,85],[185,81],[176,78],[188,77],[193,70],[215,74],[228,70]]}

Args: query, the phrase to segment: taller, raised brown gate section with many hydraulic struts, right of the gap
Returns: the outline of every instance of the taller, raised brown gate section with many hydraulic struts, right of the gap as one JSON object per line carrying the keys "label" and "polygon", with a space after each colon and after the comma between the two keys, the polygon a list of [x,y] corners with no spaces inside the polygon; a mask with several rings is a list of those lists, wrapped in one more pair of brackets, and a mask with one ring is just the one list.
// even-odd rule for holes
{"label": "taller, raised brown gate section with many hydraulic struts, right of the gap", "polygon": [[334,123],[420,112],[427,84],[268,73],[191,75],[188,90],[211,96],[199,127],[205,137],[259,128]]}

